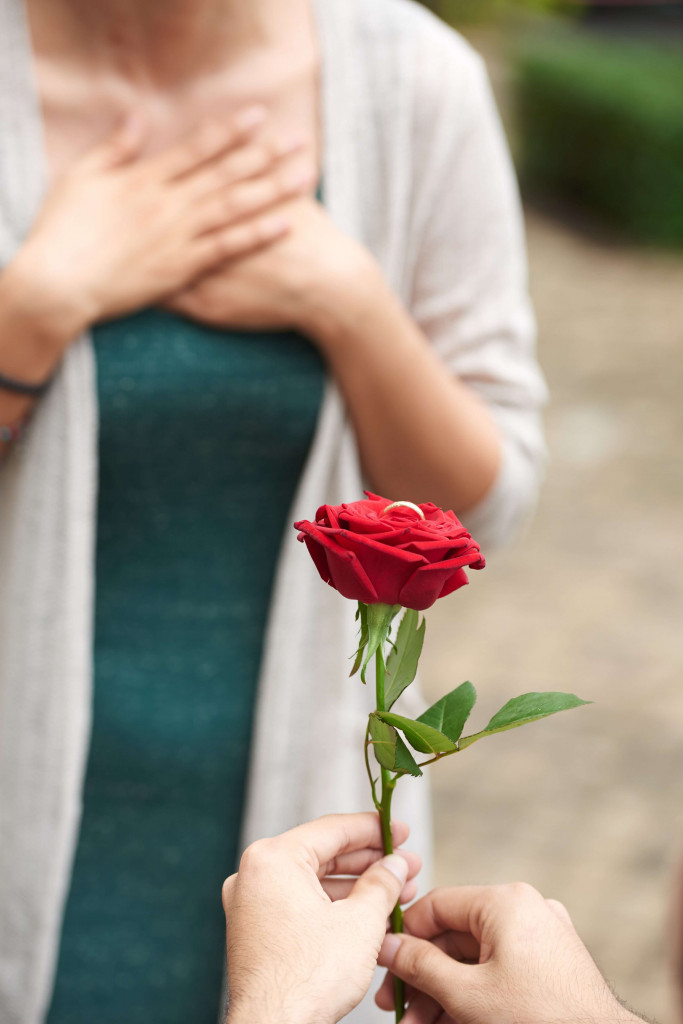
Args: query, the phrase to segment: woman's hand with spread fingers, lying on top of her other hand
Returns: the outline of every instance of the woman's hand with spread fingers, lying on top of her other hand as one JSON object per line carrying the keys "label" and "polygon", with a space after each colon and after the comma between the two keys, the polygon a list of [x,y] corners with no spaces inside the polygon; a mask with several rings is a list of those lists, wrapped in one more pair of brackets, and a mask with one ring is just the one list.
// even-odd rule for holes
{"label": "woman's hand with spread fingers, lying on top of her other hand", "polygon": [[264,118],[251,108],[143,159],[144,125],[128,119],[48,194],[6,271],[25,303],[63,324],[71,341],[286,234],[272,208],[310,189],[314,172],[283,166],[296,143],[254,138]]}

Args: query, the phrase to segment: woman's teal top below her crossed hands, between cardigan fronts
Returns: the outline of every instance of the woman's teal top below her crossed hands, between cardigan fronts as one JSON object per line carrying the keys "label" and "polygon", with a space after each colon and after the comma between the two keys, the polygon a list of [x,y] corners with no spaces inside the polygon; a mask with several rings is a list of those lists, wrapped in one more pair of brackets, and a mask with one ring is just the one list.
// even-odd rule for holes
{"label": "woman's teal top below her crossed hands, between cardigan fronts", "polygon": [[94,703],[49,1024],[216,1024],[273,570],[324,385],[291,333],[94,331]]}

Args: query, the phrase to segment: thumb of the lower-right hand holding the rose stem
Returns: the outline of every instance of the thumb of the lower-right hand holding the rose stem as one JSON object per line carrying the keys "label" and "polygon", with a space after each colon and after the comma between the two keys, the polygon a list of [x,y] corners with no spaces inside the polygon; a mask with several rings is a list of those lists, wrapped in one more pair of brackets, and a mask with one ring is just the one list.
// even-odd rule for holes
{"label": "thumb of the lower-right hand holding the rose stem", "polygon": [[431,995],[440,1006],[453,1001],[454,993],[464,995],[463,988],[471,983],[472,972],[480,970],[451,959],[431,942],[413,935],[387,935],[378,963],[409,985]]}

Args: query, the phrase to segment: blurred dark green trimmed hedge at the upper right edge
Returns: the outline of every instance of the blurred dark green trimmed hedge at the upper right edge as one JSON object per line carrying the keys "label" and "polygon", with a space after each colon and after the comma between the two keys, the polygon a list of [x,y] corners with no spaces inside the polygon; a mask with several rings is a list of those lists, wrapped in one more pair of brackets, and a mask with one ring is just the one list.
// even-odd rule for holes
{"label": "blurred dark green trimmed hedge at the upper right edge", "polygon": [[522,181],[645,242],[683,245],[680,50],[586,30],[516,52]]}

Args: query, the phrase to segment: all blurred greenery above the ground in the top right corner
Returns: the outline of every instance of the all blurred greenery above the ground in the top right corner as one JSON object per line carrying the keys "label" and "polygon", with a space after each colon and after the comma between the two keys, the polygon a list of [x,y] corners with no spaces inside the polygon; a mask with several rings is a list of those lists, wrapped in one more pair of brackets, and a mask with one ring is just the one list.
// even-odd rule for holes
{"label": "all blurred greenery above the ground in the top right corner", "polygon": [[527,200],[683,246],[682,2],[426,2],[505,60]]}

